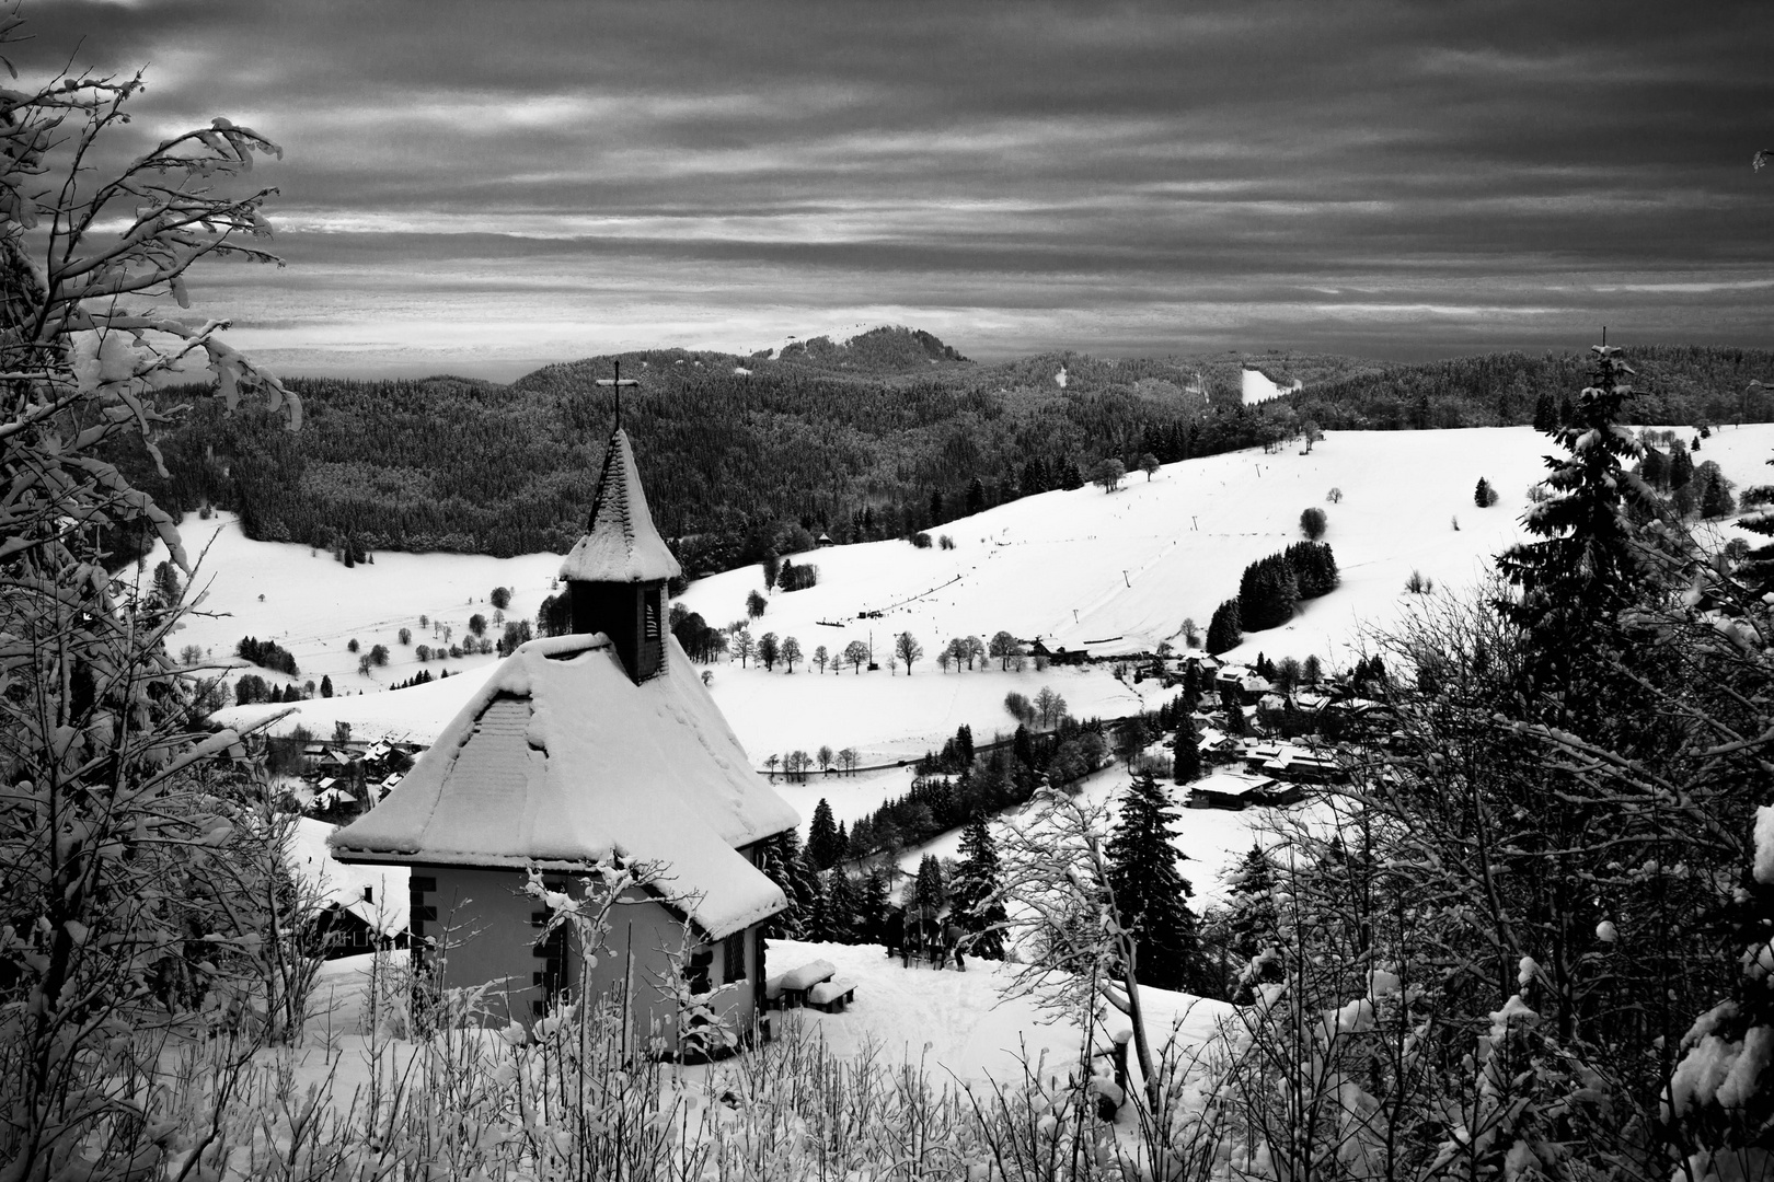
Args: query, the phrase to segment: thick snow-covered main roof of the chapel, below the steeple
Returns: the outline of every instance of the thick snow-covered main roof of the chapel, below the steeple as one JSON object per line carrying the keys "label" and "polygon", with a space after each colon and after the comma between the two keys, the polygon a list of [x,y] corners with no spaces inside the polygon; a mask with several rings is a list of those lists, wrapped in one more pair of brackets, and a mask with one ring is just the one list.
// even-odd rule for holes
{"label": "thick snow-covered main roof of the chapel, below the steeple", "polygon": [[736,847],[798,817],[667,643],[665,675],[639,686],[601,634],[523,645],[334,849],[472,867],[667,863],[662,890],[715,939],[781,911],[782,891]]}

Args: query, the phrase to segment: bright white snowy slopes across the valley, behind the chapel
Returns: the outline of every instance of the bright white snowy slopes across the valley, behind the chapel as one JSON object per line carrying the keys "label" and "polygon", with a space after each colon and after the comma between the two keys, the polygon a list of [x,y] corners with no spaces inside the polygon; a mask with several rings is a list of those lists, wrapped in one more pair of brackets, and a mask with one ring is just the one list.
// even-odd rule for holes
{"label": "bright white snowy slopes across the valley, behind the chapel", "polygon": [[[646,441],[637,448],[644,475]],[[1417,599],[1403,590],[1412,571],[1435,579],[1437,595],[1462,594],[1483,578],[1492,555],[1522,539],[1526,493],[1543,475],[1549,450],[1549,439],[1527,427],[1330,432],[1309,455],[1299,445],[1279,454],[1235,452],[1167,464],[1150,482],[1135,471],[1116,493],[1089,486],[1029,496],[933,532],[951,537],[954,549],[889,540],[791,555],[820,567],[820,585],[775,592],[752,633],[795,636],[809,656],[818,645],[839,652],[873,634],[882,668],[821,675],[802,663],[789,675],[781,665],[765,672],[756,661],[750,668],[722,663],[711,666],[711,689],[759,767],[766,753],[820,746],[855,746],[864,764],[912,758],[962,723],[983,741],[1009,727],[1002,704],[1013,689],[1032,695],[1052,686],[1077,716],[1157,705],[1162,691],[1151,682],[1123,686],[1105,666],[1004,673],[990,663],[986,672],[944,673],[935,654],[954,636],[990,640],[1001,629],[1107,654],[1180,643],[1183,618],[1205,629],[1213,608],[1236,595],[1245,564],[1299,540],[1307,507],[1329,516],[1325,540],[1343,585],[1304,604],[1288,626],[1247,634],[1231,656],[1316,654],[1334,668],[1359,649],[1364,629],[1387,627]],[[1774,477],[1763,466],[1770,454],[1774,425],[1758,424],[1715,432],[1694,459],[1714,459],[1747,486]],[[1472,503],[1480,477],[1501,494],[1492,509]],[[1330,489],[1341,489],[1339,502],[1325,500]],[[227,615],[193,618],[179,640],[209,649],[215,659],[247,634],[277,640],[294,654],[303,679],[332,675],[339,693],[351,696],[305,702],[280,723],[318,735],[330,735],[342,719],[355,737],[435,737],[495,657],[447,661],[461,680],[376,693],[420,668],[438,670],[436,661],[422,666],[412,647],[401,647],[397,629],[410,627],[415,645],[436,643],[419,626],[426,613],[459,638],[468,615],[491,620],[486,597],[495,585],[513,590],[507,615],[534,617],[561,565],[555,555],[378,553],[374,564],[346,571],[325,551],[312,556],[307,546],[250,542],[231,519],[218,525],[204,606]],[[188,549],[200,548],[209,526],[186,519]],[[754,588],[763,579],[757,567],[747,567],[697,581],[683,603],[724,627],[745,617]],[[882,615],[859,618],[862,611]],[[901,631],[926,652],[910,677],[887,668]],[[387,645],[390,665],[360,677],[357,656],[346,650],[351,638],[365,650]],[[273,709],[284,707],[245,707],[225,718],[247,721]]]}

